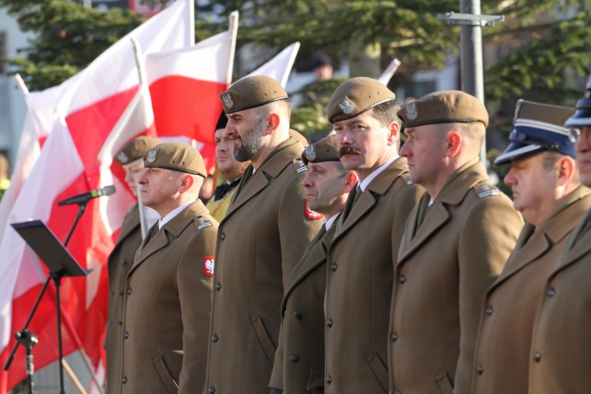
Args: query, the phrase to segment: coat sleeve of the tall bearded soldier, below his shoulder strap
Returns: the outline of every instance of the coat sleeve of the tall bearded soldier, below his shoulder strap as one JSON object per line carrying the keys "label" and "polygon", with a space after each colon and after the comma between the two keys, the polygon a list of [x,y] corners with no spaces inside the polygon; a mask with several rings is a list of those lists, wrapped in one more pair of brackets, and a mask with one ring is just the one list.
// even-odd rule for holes
{"label": "coat sleeve of the tall bearded soldier, below his shoulder strap", "polygon": [[289,274],[302,258],[306,246],[318,234],[323,219],[309,219],[306,216],[306,197],[302,180],[305,172],[289,180],[281,197],[277,227],[281,242],[283,288],[286,288]]}

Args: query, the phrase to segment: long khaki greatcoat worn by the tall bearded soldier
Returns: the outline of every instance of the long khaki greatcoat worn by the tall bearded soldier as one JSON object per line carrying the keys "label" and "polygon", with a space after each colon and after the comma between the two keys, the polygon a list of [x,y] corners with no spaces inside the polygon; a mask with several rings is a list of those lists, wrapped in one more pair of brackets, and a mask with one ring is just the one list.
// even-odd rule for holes
{"label": "long khaki greatcoat worn by the tall bearded soldier", "polygon": [[283,289],[322,225],[306,215],[303,149],[290,137],[248,166],[220,223],[206,392],[268,393]]}

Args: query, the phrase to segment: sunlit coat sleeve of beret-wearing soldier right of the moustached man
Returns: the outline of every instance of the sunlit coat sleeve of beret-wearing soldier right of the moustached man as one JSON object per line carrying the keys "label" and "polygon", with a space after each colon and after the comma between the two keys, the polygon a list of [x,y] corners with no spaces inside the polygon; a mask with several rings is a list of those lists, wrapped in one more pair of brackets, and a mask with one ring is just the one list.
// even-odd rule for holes
{"label": "sunlit coat sleeve of beret-wearing soldier right of the moustached man", "polygon": [[454,393],[470,393],[484,294],[501,273],[523,226],[506,196],[477,201],[462,223],[458,250],[460,356]]}

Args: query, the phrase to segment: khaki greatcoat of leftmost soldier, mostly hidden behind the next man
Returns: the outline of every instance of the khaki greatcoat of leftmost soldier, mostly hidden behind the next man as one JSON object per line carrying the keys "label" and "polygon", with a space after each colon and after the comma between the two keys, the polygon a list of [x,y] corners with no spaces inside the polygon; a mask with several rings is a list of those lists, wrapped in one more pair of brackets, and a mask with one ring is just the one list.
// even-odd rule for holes
{"label": "khaki greatcoat of leftmost soldier, mostly hidden behind the next man", "polygon": [[142,228],[139,225],[139,206],[131,207],[123,219],[121,232],[109,255],[109,309],[107,316],[107,388],[117,393],[121,375],[121,348],[123,346],[123,294],[125,278],[133,265],[137,248],[142,244]]}

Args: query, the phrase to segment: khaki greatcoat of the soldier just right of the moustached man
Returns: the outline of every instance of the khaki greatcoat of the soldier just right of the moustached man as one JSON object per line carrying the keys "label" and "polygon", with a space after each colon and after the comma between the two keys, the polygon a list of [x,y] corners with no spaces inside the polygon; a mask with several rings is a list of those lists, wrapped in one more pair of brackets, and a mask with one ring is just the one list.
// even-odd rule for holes
{"label": "khaki greatcoat of the soldier just right of the moustached man", "polygon": [[[469,393],[480,309],[523,226],[478,158],[456,171],[420,228],[406,222],[391,314],[391,393]],[[458,371],[456,373],[456,371]]]}

